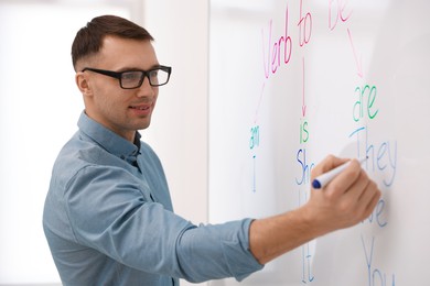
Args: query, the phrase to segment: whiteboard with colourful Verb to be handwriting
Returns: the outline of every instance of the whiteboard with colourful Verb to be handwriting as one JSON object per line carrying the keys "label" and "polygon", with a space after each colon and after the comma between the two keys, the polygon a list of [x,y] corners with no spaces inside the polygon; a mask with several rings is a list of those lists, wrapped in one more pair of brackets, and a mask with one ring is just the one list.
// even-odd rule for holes
{"label": "whiteboard with colourful Verb to be handwriting", "polygon": [[327,154],[369,156],[383,191],[358,226],[240,285],[428,285],[429,12],[424,0],[211,1],[209,221],[303,205]]}

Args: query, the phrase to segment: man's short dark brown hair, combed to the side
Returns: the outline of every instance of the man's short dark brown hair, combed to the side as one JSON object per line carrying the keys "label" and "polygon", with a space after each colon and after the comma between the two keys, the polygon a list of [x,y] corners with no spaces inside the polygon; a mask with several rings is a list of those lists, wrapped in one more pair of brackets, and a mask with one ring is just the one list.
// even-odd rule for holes
{"label": "man's short dark brown hair, combed to the side", "polygon": [[72,62],[75,70],[77,61],[97,53],[101,48],[103,40],[108,35],[153,41],[146,29],[127,19],[116,15],[96,16],[76,33],[73,41]]}

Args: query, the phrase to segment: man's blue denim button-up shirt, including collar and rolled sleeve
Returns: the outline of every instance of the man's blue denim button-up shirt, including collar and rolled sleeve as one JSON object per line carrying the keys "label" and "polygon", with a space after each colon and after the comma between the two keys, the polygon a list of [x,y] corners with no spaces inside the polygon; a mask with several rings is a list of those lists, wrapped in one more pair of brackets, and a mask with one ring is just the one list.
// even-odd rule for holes
{"label": "man's blue denim button-up shirt, including collar and rolled sleeve", "polygon": [[43,227],[64,285],[179,285],[240,280],[262,268],[249,252],[250,219],[194,226],[173,213],[161,163],[89,119],[54,164]]}

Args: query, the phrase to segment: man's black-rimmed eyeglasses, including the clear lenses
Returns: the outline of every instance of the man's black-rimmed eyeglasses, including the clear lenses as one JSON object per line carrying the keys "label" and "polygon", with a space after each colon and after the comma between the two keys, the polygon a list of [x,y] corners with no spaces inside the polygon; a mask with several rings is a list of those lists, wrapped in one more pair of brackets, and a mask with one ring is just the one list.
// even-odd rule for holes
{"label": "man's black-rimmed eyeglasses, including the clear lenses", "polygon": [[111,72],[98,68],[86,67],[82,72],[90,70],[105,76],[119,79],[119,86],[123,89],[138,88],[143,84],[144,77],[148,77],[151,87],[164,86],[169,82],[172,68],[169,66],[158,66],[149,70],[125,70],[125,72]]}

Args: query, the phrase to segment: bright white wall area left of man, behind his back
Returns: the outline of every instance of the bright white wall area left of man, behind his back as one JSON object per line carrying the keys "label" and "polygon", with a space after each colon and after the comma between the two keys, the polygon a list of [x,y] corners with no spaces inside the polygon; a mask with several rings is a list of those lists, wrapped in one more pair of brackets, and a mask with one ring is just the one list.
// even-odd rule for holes
{"label": "bright white wall area left of man, behind his back", "polygon": [[60,283],[42,229],[53,162],[83,110],[69,56],[89,19],[121,4],[0,0],[0,285]]}

